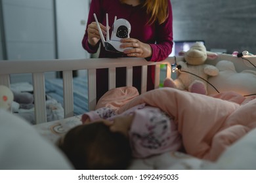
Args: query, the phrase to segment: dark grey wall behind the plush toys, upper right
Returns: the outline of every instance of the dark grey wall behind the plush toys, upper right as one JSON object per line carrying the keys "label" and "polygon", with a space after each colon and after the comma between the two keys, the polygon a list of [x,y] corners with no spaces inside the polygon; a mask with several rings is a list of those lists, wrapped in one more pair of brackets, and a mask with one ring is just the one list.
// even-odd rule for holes
{"label": "dark grey wall behind the plush toys, upper right", "polygon": [[207,50],[256,54],[255,0],[171,0],[175,41],[204,40]]}

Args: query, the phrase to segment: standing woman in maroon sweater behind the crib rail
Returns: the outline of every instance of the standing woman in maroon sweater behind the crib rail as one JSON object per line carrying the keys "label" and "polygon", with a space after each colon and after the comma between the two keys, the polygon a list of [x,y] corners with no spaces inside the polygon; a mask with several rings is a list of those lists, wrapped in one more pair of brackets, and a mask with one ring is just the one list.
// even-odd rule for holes
{"label": "standing woman in maroon sweater behind the crib rail", "polygon": [[[100,44],[100,35],[93,14],[96,14],[102,32],[106,35],[106,13],[108,24],[114,17],[124,18],[131,24],[130,38],[122,39],[121,47],[131,49],[123,53],[108,52]],[[111,35],[110,35],[111,37]],[[83,48],[96,53],[99,58],[138,57],[147,61],[161,61],[171,54],[173,48],[173,15],[170,0],[92,0],[87,29],[82,41]],[[116,87],[125,86],[125,68],[117,68]],[[141,70],[133,67],[133,86],[140,91]],[[154,89],[154,67],[148,68],[147,90]],[[98,99],[108,90],[108,69],[96,71],[96,93]]]}

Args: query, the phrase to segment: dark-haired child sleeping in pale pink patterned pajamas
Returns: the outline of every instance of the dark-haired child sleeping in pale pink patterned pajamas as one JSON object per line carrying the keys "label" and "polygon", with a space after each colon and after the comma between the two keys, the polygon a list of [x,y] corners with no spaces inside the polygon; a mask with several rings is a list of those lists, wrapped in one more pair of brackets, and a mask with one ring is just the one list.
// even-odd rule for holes
{"label": "dark-haired child sleeping in pale pink patterned pajamas", "polygon": [[147,158],[182,147],[173,118],[145,104],[121,114],[109,107],[86,112],[58,146],[75,169],[127,169],[132,158]]}

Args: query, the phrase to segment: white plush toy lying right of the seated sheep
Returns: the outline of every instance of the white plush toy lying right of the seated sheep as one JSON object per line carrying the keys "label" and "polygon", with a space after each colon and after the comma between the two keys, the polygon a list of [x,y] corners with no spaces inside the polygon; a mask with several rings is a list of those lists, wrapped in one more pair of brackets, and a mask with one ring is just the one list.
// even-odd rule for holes
{"label": "white plush toy lying right of the seated sheep", "polygon": [[[256,71],[244,70],[237,73],[234,63],[227,60],[221,60],[216,64],[219,69],[219,75],[209,77],[211,83],[218,92],[234,91],[241,95],[256,94]],[[207,86],[208,94],[218,93],[212,86]]]}

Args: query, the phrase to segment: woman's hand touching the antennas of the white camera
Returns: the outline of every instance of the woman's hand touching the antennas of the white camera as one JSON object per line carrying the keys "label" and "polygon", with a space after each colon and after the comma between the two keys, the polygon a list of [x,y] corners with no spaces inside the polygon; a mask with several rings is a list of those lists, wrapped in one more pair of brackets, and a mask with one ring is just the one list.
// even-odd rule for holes
{"label": "woman's hand touching the antennas of the white camera", "polygon": [[[100,29],[102,30],[103,35],[106,35],[106,30],[107,30],[106,26],[100,24]],[[87,33],[88,33],[89,44],[91,44],[91,46],[95,46],[100,40],[100,33],[98,32],[98,27],[96,22],[92,22],[91,24],[88,25]]]}

